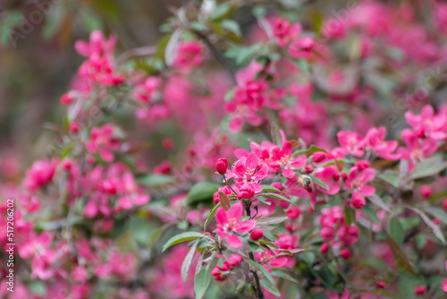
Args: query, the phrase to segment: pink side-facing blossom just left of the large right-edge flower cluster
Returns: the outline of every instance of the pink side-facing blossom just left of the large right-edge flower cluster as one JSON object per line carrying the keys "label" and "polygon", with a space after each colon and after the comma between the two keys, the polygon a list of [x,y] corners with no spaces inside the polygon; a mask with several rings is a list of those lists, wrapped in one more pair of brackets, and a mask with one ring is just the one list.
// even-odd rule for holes
{"label": "pink side-facing blossom just left of the large right-edge flower cluster", "polygon": [[397,160],[401,158],[401,155],[392,153],[398,147],[397,141],[384,141],[386,134],[386,129],[381,127],[371,128],[367,132],[367,136],[365,137],[365,147],[374,149],[377,156],[381,158],[386,158],[389,160]]}

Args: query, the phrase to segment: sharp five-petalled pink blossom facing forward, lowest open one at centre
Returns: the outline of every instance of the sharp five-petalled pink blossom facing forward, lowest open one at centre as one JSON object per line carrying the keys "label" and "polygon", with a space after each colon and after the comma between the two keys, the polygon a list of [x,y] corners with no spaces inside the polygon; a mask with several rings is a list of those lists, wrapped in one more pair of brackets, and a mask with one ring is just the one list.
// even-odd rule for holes
{"label": "sharp five-petalled pink blossom facing forward, lowest open one at centre", "polygon": [[223,239],[226,238],[230,246],[234,248],[239,248],[242,245],[240,237],[235,233],[248,233],[256,226],[255,220],[240,221],[243,209],[242,203],[235,203],[226,212],[223,208],[219,208],[215,213],[217,235]]}

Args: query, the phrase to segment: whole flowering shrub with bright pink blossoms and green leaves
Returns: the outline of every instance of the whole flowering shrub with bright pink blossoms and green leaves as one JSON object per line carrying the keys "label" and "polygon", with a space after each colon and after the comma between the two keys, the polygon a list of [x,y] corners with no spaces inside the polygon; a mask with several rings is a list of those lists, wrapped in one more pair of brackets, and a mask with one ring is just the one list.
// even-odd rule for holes
{"label": "whole flowering shrub with bright pink blossoms and green leaves", "polygon": [[426,21],[418,4],[311,25],[305,4],[204,1],[148,56],[115,56],[100,31],[76,42],[50,157],[20,180],[2,164],[17,260],[0,296],[445,297],[447,105],[431,72],[447,66],[446,5]]}

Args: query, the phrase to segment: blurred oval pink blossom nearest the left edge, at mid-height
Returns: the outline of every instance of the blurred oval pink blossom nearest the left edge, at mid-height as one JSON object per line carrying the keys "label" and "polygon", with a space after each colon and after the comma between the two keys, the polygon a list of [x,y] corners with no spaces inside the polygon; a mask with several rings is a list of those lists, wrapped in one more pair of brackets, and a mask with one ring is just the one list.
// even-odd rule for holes
{"label": "blurred oval pink blossom nearest the left edge, at mid-height", "polygon": [[30,191],[36,191],[50,183],[55,175],[57,164],[58,161],[56,159],[34,162],[27,172],[23,185]]}

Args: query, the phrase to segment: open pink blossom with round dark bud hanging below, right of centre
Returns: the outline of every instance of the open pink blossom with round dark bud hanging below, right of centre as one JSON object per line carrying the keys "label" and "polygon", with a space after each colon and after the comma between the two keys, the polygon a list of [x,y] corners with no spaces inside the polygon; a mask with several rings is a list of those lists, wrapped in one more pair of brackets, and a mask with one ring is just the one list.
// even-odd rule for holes
{"label": "open pink blossom with round dark bud hanging below, right of centre", "polygon": [[358,173],[358,167],[352,167],[350,169],[350,175],[348,175],[345,187],[352,190],[352,204],[354,208],[360,209],[366,203],[364,196],[371,196],[375,193],[375,188],[367,185],[375,177],[375,170],[367,168]]}

